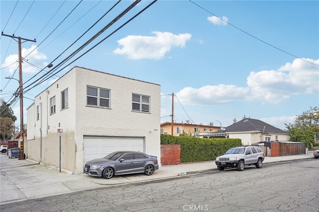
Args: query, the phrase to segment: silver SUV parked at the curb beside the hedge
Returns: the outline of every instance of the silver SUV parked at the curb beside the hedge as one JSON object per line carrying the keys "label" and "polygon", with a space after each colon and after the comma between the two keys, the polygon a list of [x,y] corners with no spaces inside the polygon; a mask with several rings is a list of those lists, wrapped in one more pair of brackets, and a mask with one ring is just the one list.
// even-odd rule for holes
{"label": "silver SUV parked at the curb beside the hedge", "polygon": [[234,147],[229,149],[225,155],[216,158],[218,170],[225,167],[237,168],[244,171],[245,165],[256,165],[256,168],[263,167],[264,153],[257,146]]}

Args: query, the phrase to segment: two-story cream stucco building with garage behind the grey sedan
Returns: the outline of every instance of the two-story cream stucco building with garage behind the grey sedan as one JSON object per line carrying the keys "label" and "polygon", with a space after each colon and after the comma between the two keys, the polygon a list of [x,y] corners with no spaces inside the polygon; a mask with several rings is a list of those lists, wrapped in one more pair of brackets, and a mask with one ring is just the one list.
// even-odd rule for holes
{"label": "two-story cream stucco building with garage behind the grey sedan", "polygon": [[160,85],[75,66],[35,97],[27,132],[26,158],[75,174],[118,150],[160,163]]}

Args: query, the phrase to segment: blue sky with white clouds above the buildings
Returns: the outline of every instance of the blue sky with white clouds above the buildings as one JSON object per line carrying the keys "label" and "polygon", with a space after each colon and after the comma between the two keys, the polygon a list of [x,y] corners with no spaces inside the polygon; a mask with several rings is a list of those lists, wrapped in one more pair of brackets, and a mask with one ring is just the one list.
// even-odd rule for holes
{"label": "blue sky with white clouds above the buildings", "polygon": [[[112,33],[152,2],[142,0],[58,67],[133,3],[121,1],[78,39],[116,2],[0,1],[1,31],[36,39],[21,45],[23,87],[59,71],[24,94],[24,122],[34,97],[74,66],[160,84],[161,123],[171,121],[172,93],[174,121],[224,127],[246,116],[285,130],[319,106],[319,1],[158,0]],[[19,77],[18,45],[7,36],[0,44],[0,98],[8,102],[18,82],[4,77]],[[19,125],[19,102],[11,107]]]}

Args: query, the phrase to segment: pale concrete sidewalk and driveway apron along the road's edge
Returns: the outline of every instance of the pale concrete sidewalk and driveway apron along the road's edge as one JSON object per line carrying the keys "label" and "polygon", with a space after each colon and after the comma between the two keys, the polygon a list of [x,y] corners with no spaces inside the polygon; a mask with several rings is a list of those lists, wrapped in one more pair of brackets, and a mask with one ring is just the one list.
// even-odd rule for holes
{"label": "pale concrete sidewalk and driveway apron along the road's edge", "polygon": [[[265,157],[263,164],[314,159],[312,152],[305,155]],[[315,159],[314,159],[315,160]],[[111,179],[71,175],[29,160],[8,159],[0,154],[0,205],[41,197],[61,195],[118,185],[176,178],[183,175],[216,171],[215,161],[161,166],[151,176],[144,174],[115,176]]]}

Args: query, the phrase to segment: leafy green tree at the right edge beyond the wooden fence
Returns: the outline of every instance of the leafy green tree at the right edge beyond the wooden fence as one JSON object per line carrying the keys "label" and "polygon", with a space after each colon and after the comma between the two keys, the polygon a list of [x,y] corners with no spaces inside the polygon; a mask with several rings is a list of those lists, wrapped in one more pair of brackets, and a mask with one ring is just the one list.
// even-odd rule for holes
{"label": "leafy green tree at the right edge beyond the wooden fence", "polygon": [[311,148],[319,136],[319,108],[310,107],[310,110],[297,116],[294,124],[285,125],[287,131],[292,133],[290,141],[302,142]]}

